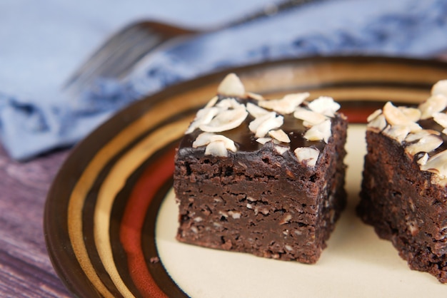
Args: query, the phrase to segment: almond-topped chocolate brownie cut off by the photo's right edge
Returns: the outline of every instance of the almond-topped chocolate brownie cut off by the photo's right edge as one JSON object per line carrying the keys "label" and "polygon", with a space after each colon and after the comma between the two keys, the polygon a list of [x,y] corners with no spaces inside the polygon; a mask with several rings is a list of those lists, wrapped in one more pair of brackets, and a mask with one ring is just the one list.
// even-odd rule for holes
{"label": "almond-topped chocolate brownie cut off by the photo's right edge", "polygon": [[368,118],[361,219],[411,269],[447,282],[447,80],[415,108],[386,103]]}

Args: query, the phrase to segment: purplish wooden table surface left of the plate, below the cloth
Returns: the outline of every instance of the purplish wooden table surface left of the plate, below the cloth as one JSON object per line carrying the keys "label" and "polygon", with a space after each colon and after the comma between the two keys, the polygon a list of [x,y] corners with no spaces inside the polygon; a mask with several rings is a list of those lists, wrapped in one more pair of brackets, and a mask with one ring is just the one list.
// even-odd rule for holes
{"label": "purplish wooden table surface left of the plate, below the cloth", "polygon": [[26,163],[0,147],[0,297],[70,297],[46,251],[46,193],[69,150]]}

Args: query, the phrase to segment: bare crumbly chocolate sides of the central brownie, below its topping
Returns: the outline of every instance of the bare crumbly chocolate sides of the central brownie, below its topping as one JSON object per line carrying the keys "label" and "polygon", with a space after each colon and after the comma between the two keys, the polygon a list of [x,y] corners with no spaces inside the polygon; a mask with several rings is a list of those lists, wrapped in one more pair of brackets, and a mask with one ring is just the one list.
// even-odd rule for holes
{"label": "bare crumbly chocolate sides of the central brownie, below its topping", "polygon": [[346,205],[346,128],[337,115],[315,169],[303,167],[290,150],[281,155],[273,143],[227,158],[181,148],[174,173],[177,240],[315,263]]}

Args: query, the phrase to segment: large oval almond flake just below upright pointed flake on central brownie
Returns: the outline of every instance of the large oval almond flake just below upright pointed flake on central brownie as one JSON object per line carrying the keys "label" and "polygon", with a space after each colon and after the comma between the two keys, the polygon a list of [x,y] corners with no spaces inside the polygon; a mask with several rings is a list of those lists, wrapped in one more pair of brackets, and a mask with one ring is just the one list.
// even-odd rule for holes
{"label": "large oval almond flake just below upright pointed flake on central brownie", "polygon": [[241,105],[239,108],[230,109],[220,112],[209,123],[199,125],[201,130],[208,133],[219,133],[238,127],[247,118],[248,112]]}

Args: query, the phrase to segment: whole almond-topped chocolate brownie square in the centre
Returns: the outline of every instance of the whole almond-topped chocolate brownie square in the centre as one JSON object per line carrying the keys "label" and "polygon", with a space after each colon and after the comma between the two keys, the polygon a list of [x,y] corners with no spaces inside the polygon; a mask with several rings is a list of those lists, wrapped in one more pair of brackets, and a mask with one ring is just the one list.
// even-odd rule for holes
{"label": "whole almond-topped chocolate brownie square in the centre", "polygon": [[177,240],[315,263],[341,210],[346,118],[332,98],[246,93],[234,74],[201,109],[175,159]]}

